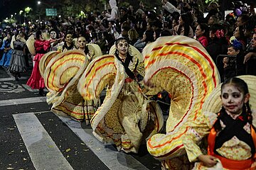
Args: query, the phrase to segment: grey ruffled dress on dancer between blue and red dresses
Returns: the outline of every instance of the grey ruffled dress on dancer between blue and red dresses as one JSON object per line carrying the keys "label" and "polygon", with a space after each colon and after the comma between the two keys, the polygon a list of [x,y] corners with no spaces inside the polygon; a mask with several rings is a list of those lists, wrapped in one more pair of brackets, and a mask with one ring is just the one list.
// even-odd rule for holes
{"label": "grey ruffled dress on dancer between blue and red dresses", "polygon": [[16,40],[14,43],[14,50],[11,55],[11,62],[8,67],[8,71],[12,73],[26,72],[26,62],[23,54],[24,46],[26,42]]}

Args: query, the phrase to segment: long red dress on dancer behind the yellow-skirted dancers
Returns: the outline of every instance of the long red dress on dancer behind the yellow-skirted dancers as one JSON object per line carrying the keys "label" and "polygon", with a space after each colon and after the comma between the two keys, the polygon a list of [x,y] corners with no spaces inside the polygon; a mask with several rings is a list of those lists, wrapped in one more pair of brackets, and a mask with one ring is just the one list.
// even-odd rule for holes
{"label": "long red dress on dancer behind the yellow-skirted dancers", "polygon": [[28,82],[26,84],[28,86],[31,86],[31,89],[43,89],[45,88],[45,84],[43,77],[41,77],[39,71],[39,62],[41,60],[41,57],[43,57],[43,55],[48,52],[48,49],[50,48],[50,41],[36,40],[34,45],[36,48],[36,55],[33,58],[33,61],[35,61],[35,65],[33,67],[31,77],[28,79]]}

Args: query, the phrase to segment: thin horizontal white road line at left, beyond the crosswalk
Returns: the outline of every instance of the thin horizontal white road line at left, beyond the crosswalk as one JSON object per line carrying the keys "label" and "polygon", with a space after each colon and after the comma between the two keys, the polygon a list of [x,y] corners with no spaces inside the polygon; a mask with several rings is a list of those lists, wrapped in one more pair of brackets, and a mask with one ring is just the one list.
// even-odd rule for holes
{"label": "thin horizontal white road line at left, beyond the crosswalk", "polygon": [[18,98],[0,101],[0,106],[11,106],[27,103],[41,103],[46,102],[46,97],[33,97],[33,98]]}

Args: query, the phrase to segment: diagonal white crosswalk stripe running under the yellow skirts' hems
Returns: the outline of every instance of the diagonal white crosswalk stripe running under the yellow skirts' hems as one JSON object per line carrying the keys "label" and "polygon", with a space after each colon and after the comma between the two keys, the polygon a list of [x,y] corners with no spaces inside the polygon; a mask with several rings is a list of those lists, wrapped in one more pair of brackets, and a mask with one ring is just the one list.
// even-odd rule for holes
{"label": "diagonal white crosswalk stripe running under the yellow skirts' hems", "polygon": [[112,145],[104,145],[92,135],[92,129],[82,129],[80,123],[70,118],[58,116],[68,127],[85,142],[92,152],[111,170],[146,170],[146,166],[124,152],[117,152]]}

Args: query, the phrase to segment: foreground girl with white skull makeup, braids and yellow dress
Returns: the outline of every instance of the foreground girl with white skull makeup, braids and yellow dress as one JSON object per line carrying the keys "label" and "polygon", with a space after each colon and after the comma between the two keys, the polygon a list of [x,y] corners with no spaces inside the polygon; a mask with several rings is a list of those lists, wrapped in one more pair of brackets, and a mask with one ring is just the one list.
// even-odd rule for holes
{"label": "foreground girl with white skull makeup, braids and yellow dress", "polygon": [[[204,103],[203,117],[191,123],[183,136],[188,159],[196,161],[194,169],[256,168],[255,96],[250,98],[255,81],[253,76],[227,79]],[[214,113],[218,108],[218,114]],[[203,154],[197,144],[206,135],[208,154]]]}

